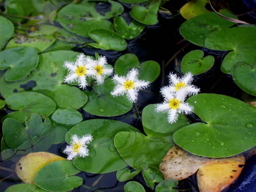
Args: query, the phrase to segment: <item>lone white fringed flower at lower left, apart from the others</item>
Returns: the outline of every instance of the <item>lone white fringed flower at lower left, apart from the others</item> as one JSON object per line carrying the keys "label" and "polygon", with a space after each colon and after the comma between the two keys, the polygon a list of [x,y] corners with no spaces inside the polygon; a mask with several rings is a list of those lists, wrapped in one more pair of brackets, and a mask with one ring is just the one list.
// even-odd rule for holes
{"label": "lone white fringed flower at lower left, apart from the others", "polygon": [[71,145],[66,146],[66,149],[63,151],[68,155],[67,160],[72,160],[76,156],[86,157],[89,155],[89,150],[87,144],[92,141],[92,135],[87,134],[78,138],[77,135],[72,135]]}

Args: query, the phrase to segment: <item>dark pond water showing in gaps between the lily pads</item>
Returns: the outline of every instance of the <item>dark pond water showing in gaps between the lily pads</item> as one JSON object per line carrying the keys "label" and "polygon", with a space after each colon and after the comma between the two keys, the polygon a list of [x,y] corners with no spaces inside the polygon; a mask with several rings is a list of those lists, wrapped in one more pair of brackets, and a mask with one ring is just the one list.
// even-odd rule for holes
{"label": "dark pond water showing in gaps between the lily pads", "polygon": [[[137,105],[140,114],[142,113],[143,108],[148,104],[156,104],[162,101],[162,96],[159,91],[162,86],[166,86],[168,84],[168,74],[170,72],[182,74],[180,62],[183,56],[191,50],[196,49],[203,50],[205,54],[204,56],[214,56],[215,63],[210,70],[195,77],[194,85],[200,87],[200,91],[202,93],[224,94],[242,100],[243,91],[234,83],[231,75],[224,74],[220,70],[220,65],[227,52],[214,51],[196,46],[181,36],[179,27],[185,21],[185,19],[178,14],[178,10],[186,2],[186,0],[171,0],[170,2],[167,2],[164,5],[164,8],[170,10],[173,15],[165,14],[164,12],[158,13],[158,24],[146,26],[140,36],[135,39],[128,40],[127,49],[124,51],[108,51],[88,47],[73,48],[72,50],[76,52],[83,52],[86,55],[94,55],[94,52],[98,52],[100,55],[105,55],[108,59],[108,64],[111,65],[114,65],[119,56],[126,53],[135,54],[140,62],[147,60],[154,60],[158,62],[161,67],[160,76],[158,76],[158,78],[150,85],[150,88],[147,90],[142,90],[139,93]],[[241,0],[234,2],[227,0],[226,2],[230,4],[230,10],[232,10],[234,14],[242,14],[256,8],[255,1]],[[106,7],[104,8],[107,9]],[[4,9],[4,6],[2,6],[2,9]],[[128,10],[129,6],[125,4],[125,11]],[[256,14],[245,14],[239,19],[246,20],[246,22],[255,23]],[[55,25],[61,27],[57,23],[55,23]],[[33,85],[28,84],[27,86],[28,88],[31,88]],[[82,108],[78,109],[78,111],[82,114],[83,121],[102,118],[118,120],[130,124],[141,132],[144,132],[141,116],[136,115],[136,108],[134,107],[129,112],[115,117],[95,116],[84,111]],[[4,110],[0,111],[0,115],[3,117],[10,112],[12,112],[12,110],[4,108]],[[198,122],[198,117],[196,115],[188,116],[188,118],[190,122]],[[66,155],[62,152],[66,145],[66,142],[52,144],[47,151],[66,158]],[[6,188],[9,186],[22,183],[22,181],[20,181],[20,179],[16,176],[15,172],[13,172],[15,163],[18,161],[19,157],[20,156],[14,156],[14,158],[0,162],[0,191],[4,192],[4,190],[6,190]],[[244,170],[242,171],[242,174],[238,180],[224,191],[256,191],[255,162],[255,156],[246,161]],[[80,188],[74,189],[74,192],[122,192],[124,191],[124,184],[126,184],[126,182],[119,182],[116,179],[116,172],[111,172],[108,174],[91,174],[81,172],[77,175],[83,178],[84,183]],[[142,184],[146,191],[154,191],[147,186],[142,173],[132,178],[132,180],[138,181],[140,184]],[[196,174],[181,180],[177,189],[179,191],[198,192],[199,189],[197,186]]]}

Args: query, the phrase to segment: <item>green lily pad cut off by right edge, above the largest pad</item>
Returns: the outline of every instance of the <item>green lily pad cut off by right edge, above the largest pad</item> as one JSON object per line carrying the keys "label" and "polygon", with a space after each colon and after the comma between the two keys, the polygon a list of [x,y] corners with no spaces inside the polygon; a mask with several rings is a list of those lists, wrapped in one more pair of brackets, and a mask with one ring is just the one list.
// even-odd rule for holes
{"label": "green lily pad cut off by right edge, above the largest pad", "polygon": [[237,63],[232,68],[232,78],[234,82],[240,87],[244,92],[256,96],[256,84],[254,80],[256,79],[256,64],[254,66]]}

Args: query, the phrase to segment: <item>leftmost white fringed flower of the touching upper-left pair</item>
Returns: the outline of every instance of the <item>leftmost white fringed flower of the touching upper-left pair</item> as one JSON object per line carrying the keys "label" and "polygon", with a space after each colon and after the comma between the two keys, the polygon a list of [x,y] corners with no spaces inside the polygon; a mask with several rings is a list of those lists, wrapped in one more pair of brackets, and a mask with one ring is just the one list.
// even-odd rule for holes
{"label": "leftmost white fringed flower of the touching upper-left pair", "polygon": [[64,67],[69,70],[69,74],[65,77],[64,82],[78,82],[81,88],[87,86],[86,77],[93,75],[92,64],[86,62],[83,53],[77,56],[75,62],[66,61]]}

